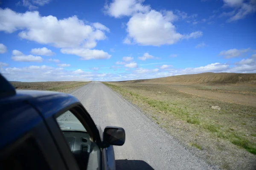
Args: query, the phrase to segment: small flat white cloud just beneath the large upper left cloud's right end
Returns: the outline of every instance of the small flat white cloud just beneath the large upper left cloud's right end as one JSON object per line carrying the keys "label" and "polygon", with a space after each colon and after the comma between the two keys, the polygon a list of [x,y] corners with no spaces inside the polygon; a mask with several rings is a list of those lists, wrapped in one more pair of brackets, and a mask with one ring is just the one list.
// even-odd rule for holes
{"label": "small flat white cloud just beneath the large upper left cloud's right end", "polygon": [[102,50],[90,50],[85,48],[62,48],[61,53],[63,54],[75,54],[80,56],[81,59],[109,59],[111,55]]}

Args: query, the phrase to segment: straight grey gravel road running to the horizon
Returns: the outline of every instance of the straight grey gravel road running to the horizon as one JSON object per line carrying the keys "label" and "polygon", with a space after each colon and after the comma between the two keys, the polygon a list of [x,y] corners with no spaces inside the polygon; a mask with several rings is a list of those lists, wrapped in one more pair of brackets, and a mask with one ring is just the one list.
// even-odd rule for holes
{"label": "straight grey gravel road running to the horizon", "polygon": [[214,169],[101,82],[90,82],[71,94],[102,129],[110,125],[125,129],[125,144],[114,147],[117,170]]}

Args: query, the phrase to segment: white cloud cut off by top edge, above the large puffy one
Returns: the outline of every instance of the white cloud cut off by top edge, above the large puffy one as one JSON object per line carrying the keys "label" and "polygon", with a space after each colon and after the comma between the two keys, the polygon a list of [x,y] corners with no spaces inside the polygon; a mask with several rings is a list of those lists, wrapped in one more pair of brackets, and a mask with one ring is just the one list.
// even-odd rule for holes
{"label": "white cloud cut off by top edge, above the large puffy one", "polygon": [[144,6],[144,0],[113,0],[105,5],[105,12],[115,18],[131,16],[136,12],[147,12],[150,6]]}

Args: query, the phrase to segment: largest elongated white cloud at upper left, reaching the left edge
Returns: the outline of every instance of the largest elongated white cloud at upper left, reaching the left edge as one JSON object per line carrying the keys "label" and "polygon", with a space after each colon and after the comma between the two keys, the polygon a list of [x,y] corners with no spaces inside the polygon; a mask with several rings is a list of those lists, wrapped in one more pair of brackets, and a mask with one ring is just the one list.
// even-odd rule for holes
{"label": "largest elongated white cloud at upper left, reaching the left edge", "polygon": [[0,16],[0,31],[20,30],[18,35],[23,39],[58,48],[92,48],[96,41],[106,38],[103,31],[86,25],[77,16],[58,20],[52,15],[41,16],[38,11],[17,13],[9,8],[0,8]]}

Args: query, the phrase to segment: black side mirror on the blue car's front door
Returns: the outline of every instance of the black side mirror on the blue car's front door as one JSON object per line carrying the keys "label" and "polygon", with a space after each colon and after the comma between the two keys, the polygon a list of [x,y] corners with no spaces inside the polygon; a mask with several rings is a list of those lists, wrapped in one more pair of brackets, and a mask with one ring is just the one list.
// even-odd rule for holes
{"label": "black side mirror on the blue car's front door", "polygon": [[125,130],[122,127],[107,126],[103,132],[103,143],[109,145],[122,146],[125,143]]}

